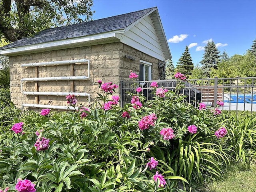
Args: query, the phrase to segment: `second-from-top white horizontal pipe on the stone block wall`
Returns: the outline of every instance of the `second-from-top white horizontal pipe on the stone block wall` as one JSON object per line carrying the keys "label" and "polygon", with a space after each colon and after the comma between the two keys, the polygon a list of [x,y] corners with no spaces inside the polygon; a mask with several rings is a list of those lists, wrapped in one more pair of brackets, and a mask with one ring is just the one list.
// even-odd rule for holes
{"label": "second-from-top white horizontal pipe on the stone block wall", "polygon": [[59,80],[86,80],[88,76],[63,76],[63,77],[34,77],[22,78],[21,81],[59,81]]}

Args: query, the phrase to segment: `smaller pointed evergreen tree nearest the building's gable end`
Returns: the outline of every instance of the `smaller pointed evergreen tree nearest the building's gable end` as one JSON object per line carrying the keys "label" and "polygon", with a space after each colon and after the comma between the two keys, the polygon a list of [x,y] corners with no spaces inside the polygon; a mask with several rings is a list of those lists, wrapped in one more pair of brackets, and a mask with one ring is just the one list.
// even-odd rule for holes
{"label": "smaller pointed evergreen tree nearest the building's gable end", "polygon": [[184,53],[177,62],[177,72],[184,74],[185,76],[191,75],[194,69],[194,64],[192,63],[192,58],[189,53],[188,46],[186,46]]}

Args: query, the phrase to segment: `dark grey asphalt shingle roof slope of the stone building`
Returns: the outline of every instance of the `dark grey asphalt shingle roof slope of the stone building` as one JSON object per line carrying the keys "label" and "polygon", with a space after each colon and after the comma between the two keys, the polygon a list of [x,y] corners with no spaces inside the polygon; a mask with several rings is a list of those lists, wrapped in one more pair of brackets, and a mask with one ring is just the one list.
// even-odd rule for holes
{"label": "dark grey asphalt shingle roof slope of the stone building", "polygon": [[98,33],[124,29],[128,27],[130,24],[136,22],[138,19],[142,18],[144,15],[146,15],[153,9],[154,7],[118,16],[98,19],[90,22],[84,22],[57,28],[49,28],[39,32],[32,38],[22,38],[11,44],[1,47],[0,50],[33,44],[40,44],[44,42],[52,42],[56,40],[78,38]]}

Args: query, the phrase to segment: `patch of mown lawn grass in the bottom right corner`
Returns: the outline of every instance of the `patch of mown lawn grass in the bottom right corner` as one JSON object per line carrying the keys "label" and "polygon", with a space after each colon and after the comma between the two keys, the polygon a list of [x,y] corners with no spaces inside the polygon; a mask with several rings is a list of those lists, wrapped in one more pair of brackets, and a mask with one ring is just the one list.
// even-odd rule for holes
{"label": "patch of mown lawn grass in the bottom right corner", "polygon": [[197,192],[256,192],[256,164],[232,164],[223,178],[205,184]]}

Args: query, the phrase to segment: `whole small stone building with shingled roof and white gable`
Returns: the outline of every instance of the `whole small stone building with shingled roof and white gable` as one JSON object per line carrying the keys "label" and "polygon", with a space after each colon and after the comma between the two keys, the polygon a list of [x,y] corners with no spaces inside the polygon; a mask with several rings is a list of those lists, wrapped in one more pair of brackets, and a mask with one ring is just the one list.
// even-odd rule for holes
{"label": "whole small stone building with shingled roof and white gable", "polygon": [[46,29],[0,54],[10,60],[12,102],[34,109],[66,109],[68,94],[88,104],[100,92],[97,80],[119,84],[130,70],[140,80],[164,78],[164,61],[171,59],[156,7]]}

